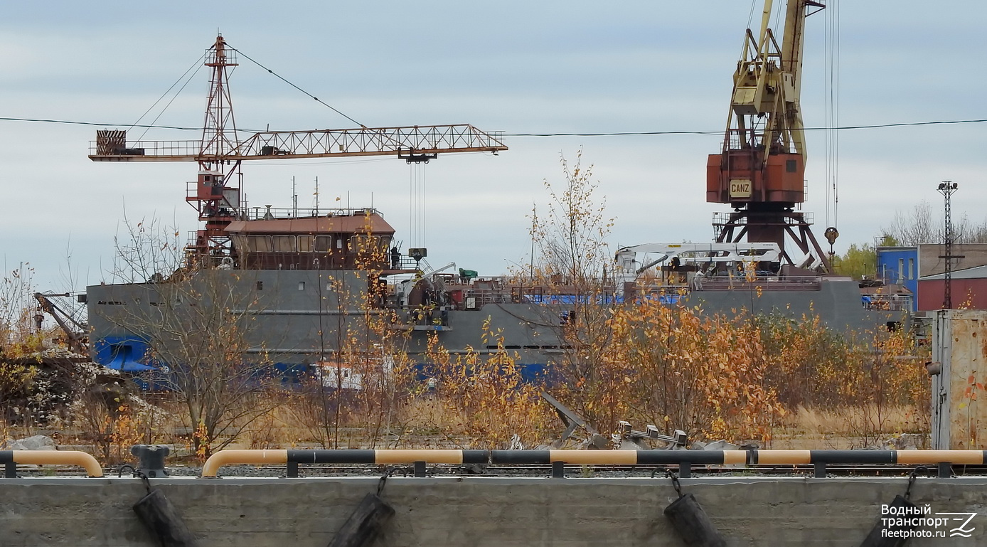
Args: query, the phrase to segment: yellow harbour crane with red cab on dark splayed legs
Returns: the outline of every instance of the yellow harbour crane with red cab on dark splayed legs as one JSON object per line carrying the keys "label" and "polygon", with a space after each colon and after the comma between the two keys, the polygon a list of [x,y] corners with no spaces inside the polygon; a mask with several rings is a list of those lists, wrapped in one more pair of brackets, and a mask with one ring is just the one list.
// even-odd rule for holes
{"label": "yellow harbour crane with red cab on dark splayed legs", "polygon": [[[779,46],[768,27],[772,0],[765,0],[760,33],[750,29],[733,74],[733,94],[722,151],[707,162],[706,200],[729,203],[714,226],[721,243],[775,242],[787,264],[788,235],[817,270],[832,273],[810,229],[811,220],[793,210],[805,200],[805,139],[798,103],[805,18],[825,8],[815,0],[788,0]],[[827,228],[832,246],[835,228]],[[796,257],[797,258],[797,257]]]}

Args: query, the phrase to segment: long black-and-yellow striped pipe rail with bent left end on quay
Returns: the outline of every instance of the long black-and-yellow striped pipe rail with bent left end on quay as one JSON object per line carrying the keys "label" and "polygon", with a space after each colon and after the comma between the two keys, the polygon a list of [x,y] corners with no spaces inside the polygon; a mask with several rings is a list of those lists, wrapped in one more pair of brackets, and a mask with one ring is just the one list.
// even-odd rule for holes
{"label": "long black-and-yellow striped pipe rail with bent left end on quay", "polygon": [[230,464],[287,464],[288,476],[298,464],[551,464],[554,476],[565,465],[678,465],[682,477],[693,465],[813,465],[825,477],[827,464],[936,465],[949,477],[951,465],[985,465],[984,450],[220,450],[206,460],[202,477],[214,478]]}

